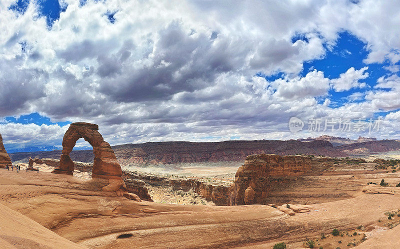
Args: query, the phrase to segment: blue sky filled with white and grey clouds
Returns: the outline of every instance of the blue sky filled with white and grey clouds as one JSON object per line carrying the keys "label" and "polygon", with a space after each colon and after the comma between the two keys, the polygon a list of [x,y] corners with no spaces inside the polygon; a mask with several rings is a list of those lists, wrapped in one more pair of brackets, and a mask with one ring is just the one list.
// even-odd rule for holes
{"label": "blue sky filled with white and grey clouds", "polygon": [[399,20],[383,0],[1,0],[0,133],[10,151],[76,121],[111,145],[400,139]]}

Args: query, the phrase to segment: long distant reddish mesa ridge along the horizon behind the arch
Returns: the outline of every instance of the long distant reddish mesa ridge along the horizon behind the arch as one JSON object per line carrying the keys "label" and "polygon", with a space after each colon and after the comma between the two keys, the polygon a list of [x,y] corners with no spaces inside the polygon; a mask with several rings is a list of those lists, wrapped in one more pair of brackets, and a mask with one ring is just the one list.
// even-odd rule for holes
{"label": "long distant reddish mesa ridge along the horizon behind the arch", "polygon": [[[327,136],[323,136],[327,137]],[[320,138],[320,137],[319,137]],[[146,142],[128,143],[112,146],[115,156],[122,166],[146,166],[153,164],[181,164],[197,162],[243,161],[249,154],[274,153],[287,154],[314,154],[332,157],[348,155],[367,155],[393,150],[400,150],[398,140],[376,140],[374,138],[359,138],[367,141],[356,142],[348,139],[348,144],[333,146],[328,140],[347,140],[346,138],[306,138],[300,140],[231,140],[221,142]],[[26,162],[29,157],[55,158],[61,155],[61,150],[27,151],[9,153],[11,160]],[[74,150],[70,153],[74,161],[92,162],[93,151]]]}

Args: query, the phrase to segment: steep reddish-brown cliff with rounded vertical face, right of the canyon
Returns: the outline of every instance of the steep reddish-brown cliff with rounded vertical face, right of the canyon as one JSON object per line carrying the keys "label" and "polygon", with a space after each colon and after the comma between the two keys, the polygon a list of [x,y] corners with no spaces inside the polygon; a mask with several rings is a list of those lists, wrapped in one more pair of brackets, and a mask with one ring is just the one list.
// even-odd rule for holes
{"label": "steep reddish-brown cliff with rounded vertical face, right of the canyon", "polygon": [[230,205],[265,204],[273,181],[270,177],[298,176],[311,169],[311,158],[300,155],[248,155],[235,174]]}

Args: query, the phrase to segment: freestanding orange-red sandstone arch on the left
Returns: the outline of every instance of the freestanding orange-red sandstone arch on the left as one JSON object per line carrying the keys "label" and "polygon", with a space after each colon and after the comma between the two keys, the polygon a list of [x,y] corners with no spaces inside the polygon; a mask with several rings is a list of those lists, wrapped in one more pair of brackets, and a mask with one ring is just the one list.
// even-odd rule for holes
{"label": "freestanding orange-red sandstone arch on the left", "polygon": [[91,176],[105,179],[122,179],[121,166],[116,160],[114,151],[109,143],[104,141],[98,132],[98,125],[86,122],[70,124],[62,138],[62,154],[59,166],[52,172],[72,174],[74,164],[69,157],[69,153],[72,151],[73,146],[75,146],[76,141],[82,137],[93,147],[94,159]]}

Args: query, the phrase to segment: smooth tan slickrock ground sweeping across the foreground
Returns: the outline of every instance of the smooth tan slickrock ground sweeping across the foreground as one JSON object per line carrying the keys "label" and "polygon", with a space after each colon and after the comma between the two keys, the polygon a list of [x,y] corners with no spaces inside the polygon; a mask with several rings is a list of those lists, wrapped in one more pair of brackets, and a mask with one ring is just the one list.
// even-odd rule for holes
{"label": "smooth tan slickrock ground sweeping across the foreground", "polygon": [[[353,170],[359,172],[362,168],[354,166]],[[367,185],[366,182],[380,182],[384,178],[394,185],[400,182],[400,174],[398,171],[366,172],[369,171],[353,175],[351,170],[347,170],[343,175],[324,174],[294,180],[285,189],[282,188],[280,193],[274,193],[276,196],[271,201],[276,201],[280,194],[286,194],[284,198],[294,196],[290,203],[294,201],[304,204],[310,198],[313,202],[323,203],[312,204],[312,211],[293,216],[265,205],[211,206],[137,202],[101,191],[96,179],[87,180],[44,171],[21,170],[16,173],[6,169],[0,169],[0,203],[20,213],[18,215],[21,218],[15,217],[21,220],[22,225],[23,218],[26,218],[39,224],[35,223],[35,227],[43,229],[44,226],[48,229],[43,232],[44,237],[49,237],[46,243],[34,235],[39,228],[27,229],[27,238],[43,244],[42,247],[54,242],[51,236],[59,235],[76,243],[76,246],[90,248],[272,248],[273,244],[280,241],[285,242],[288,248],[304,248],[305,238],[316,241],[321,232],[329,234],[333,228],[337,228],[341,232],[351,233],[362,225],[377,227],[372,230],[373,233],[368,231],[371,233],[369,239],[362,243],[362,235],[327,237],[318,241],[321,241],[319,243],[325,249],[352,247],[345,243],[354,238],[357,238],[357,246],[364,246],[360,248],[378,248],[373,246],[382,241],[388,245],[379,248],[399,248],[400,238],[393,234],[398,232],[400,226],[387,228],[387,216],[384,213],[400,208],[400,188]],[[362,192],[363,188],[392,191],[394,194],[366,194]],[[398,219],[393,221],[397,222]],[[13,220],[1,223],[0,236],[7,243],[9,241],[3,236],[13,233],[11,228],[14,223]],[[364,231],[357,232],[361,234]],[[12,239],[14,243],[23,243],[25,237],[16,236]],[[338,239],[342,240],[340,245],[337,244]],[[62,238],[59,238],[59,242],[69,243]],[[61,247],[55,243],[53,245],[49,247]],[[62,246],[71,248],[68,245]]]}

